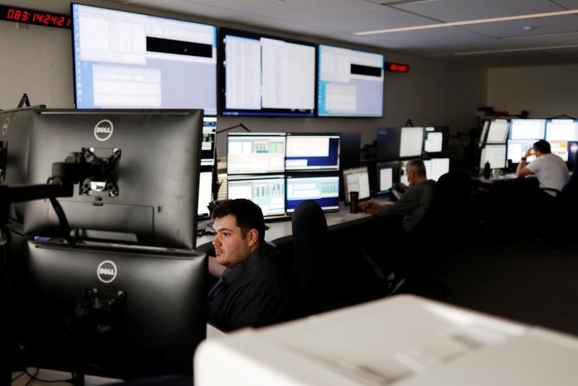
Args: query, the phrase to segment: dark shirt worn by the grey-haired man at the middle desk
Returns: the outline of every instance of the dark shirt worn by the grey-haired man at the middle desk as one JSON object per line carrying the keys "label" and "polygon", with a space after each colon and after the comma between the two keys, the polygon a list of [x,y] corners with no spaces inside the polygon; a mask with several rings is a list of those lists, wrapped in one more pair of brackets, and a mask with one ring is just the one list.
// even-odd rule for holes
{"label": "dark shirt worn by the grey-haired man at the middle desk", "polygon": [[395,204],[380,210],[378,215],[381,217],[403,217],[401,227],[406,232],[411,233],[425,217],[435,194],[436,182],[434,180],[420,181],[414,186],[410,186]]}

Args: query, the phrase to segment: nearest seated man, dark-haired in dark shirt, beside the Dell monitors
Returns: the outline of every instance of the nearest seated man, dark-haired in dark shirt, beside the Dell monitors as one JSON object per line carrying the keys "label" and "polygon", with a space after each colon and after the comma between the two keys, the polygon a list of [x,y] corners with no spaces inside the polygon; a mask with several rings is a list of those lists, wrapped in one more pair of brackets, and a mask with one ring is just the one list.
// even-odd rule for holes
{"label": "nearest seated man, dark-haired in dark shirt, beside the Dell monitors", "polygon": [[215,263],[226,267],[209,292],[209,322],[231,331],[281,322],[289,306],[289,271],[265,242],[261,208],[227,200],[213,211]]}

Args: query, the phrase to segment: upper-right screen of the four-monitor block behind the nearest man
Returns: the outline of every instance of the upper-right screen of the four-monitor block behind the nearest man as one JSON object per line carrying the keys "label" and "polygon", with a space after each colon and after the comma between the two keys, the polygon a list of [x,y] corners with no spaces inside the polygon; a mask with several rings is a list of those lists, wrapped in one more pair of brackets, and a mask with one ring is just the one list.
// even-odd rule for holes
{"label": "upper-right screen of the four-monitor block behind the nearest man", "polygon": [[285,170],[339,170],[340,134],[287,133]]}

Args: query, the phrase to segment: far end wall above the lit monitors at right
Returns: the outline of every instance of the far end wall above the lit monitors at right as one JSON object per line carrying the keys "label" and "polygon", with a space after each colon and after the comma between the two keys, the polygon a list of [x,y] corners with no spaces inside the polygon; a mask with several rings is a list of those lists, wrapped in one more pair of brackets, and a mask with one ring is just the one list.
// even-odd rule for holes
{"label": "far end wall above the lit monitors at right", "polygon": [[487,106],[531,118],[578,118],[578,64],[488,70]]}

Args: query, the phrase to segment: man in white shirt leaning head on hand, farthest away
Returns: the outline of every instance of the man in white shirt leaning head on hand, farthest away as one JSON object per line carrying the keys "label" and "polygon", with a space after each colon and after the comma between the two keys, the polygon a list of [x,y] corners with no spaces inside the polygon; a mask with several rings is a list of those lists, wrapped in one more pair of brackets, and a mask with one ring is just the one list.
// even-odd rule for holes
{"label": "man in white shirt leaning head on hand, farthest away", "polygon": [[[536,154],[536,159],[526,164],[526,159],[531,152]],[[570,178],[568,168],[563,159],[550,151],[550,143],[545,140],[539,140],[533,144],[531,149],[526,150],[526,154],[521,158],[516,170],[516,176],[524,177],[529,174],[536,174],[541,188],[555,189],[562,191],[562,188]],[[545,193],[555,197],[556,193],[546,190]]]}

